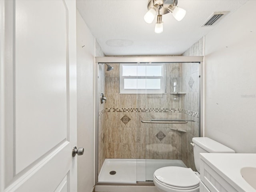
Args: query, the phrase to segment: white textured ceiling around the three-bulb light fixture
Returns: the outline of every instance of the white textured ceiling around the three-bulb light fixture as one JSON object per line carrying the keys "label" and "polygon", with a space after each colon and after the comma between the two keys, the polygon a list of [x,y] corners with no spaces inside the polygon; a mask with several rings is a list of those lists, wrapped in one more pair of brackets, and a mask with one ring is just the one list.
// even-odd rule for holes
{"label": "white textured ceiling around the three-bulb light fixture", "polygon": [[220,20],[225,22],[246,1],[178,0],[186,16],[178,22],[171,13],[163,15],[161,34],[154,32],[156,21],[144,21],[148,0],[77,0],[76,7],[107,56],[180,55],[218,26],[200,27],[213,12],[230,11]]}

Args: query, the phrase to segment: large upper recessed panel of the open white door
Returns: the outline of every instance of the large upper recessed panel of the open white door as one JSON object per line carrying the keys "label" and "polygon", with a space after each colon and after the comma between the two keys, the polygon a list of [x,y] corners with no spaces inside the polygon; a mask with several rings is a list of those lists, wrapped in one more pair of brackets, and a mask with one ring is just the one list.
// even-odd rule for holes
{"label": "large upper recessed panel of the open white door", "polygon": [[16,1],[16,174],[67,140],[66,12],[63,1]]}

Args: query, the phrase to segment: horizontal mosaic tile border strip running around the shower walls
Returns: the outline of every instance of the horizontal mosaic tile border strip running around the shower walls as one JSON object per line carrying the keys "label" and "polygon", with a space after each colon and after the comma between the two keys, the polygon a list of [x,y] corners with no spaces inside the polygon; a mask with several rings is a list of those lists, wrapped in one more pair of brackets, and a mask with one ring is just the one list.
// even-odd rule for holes
{"label": "horizontal mosaic tile border strip running around the shower walls", "polygon": [[[163,112],[163,113],[184,113],[199,118],[199,113],[180,108],[106,108],[104,112]],[[103,112],[103,113],[104,113]],[[103,114],[102,113],[102,114]]]}

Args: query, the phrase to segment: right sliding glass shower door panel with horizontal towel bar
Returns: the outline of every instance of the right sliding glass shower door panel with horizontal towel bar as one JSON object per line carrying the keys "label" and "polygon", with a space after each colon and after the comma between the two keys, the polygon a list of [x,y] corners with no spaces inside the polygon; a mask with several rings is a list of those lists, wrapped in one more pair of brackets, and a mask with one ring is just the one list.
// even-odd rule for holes
{"label": "right sliding glass shower door panel with horizontal towel bar", "polygon": [[146,90],[146,181],[164,166],[193,168],[190,142],[199,130],[198,67],[198,63],[165,63],[165,92]]}

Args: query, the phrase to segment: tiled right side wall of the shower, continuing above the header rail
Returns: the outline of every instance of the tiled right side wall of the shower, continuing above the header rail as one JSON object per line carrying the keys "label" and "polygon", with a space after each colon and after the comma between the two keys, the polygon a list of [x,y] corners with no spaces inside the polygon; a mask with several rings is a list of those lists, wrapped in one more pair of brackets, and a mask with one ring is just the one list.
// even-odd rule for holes
{"label": "tiled right side wall of the shower, continuing above the header rail", "polygon": [[[182,56],[203,56],[203,38],[193,44]],[[186,124],[186,133],[182,134],[182,161],[187,167],[196,170],[194,164],[194,152],[190,142],[193,137],[199,136],[199,65],[198,63],[182,63],[182,89],[186,94],[182,95],[183,119],[191,119],[196,122]]]}

